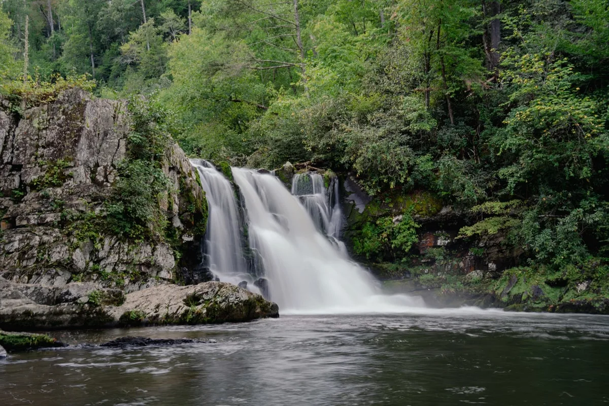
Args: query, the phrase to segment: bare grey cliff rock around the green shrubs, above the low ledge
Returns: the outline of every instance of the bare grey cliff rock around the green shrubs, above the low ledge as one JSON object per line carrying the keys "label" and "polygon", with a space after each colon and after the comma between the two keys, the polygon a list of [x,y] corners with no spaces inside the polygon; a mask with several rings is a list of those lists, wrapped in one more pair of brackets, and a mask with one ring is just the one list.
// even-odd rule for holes
{"label": "bare grey cliff rock around the green shrubs, above the low ledge", "polygon": [[180,251],[189,255],[178,261],[175,244],[126,242],[96,223],[125,159],[125,111],[124,102],[92,99],[80,89],[21,117],[0,110],[0,276],[45,286],[88,281],[133,292],[180,279],[181,270],[200,263],[195,223],[204,231],[206,212],[193,210],[192,202],[206,211],[205,194],[175,144],[161,163],[171,185],[160,205]]}

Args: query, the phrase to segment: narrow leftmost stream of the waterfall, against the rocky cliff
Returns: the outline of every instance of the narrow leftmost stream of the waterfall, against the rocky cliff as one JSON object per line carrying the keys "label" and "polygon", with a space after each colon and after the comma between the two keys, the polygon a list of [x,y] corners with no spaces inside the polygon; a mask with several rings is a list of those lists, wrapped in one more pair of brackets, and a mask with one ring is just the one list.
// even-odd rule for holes
{"label": "narrow leftmost stream of the waterfall, against the rocky cliff", "polygon": [[258,292],[248,274],[241,236],[242,220],[233,186],[221,172],[202,159],[192,159],[207,198],[209,218],[205,234],[205,265],[220,281],[239,284]]}

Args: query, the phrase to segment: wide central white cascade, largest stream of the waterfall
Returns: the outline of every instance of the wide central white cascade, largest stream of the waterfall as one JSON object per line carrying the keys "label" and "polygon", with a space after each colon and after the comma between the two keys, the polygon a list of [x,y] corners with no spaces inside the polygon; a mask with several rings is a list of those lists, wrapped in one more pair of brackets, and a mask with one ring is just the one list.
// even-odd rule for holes
{"label": "wide central white cascade, largest stream of the waterfall", "polygon": [[[280,180],[249,169],[233,168],[233,177],[247,209],[250,247],[259,253],[270,299],[282,313],[389,313],[424,306],[420,298],[382,295],[378,282],[322,234],[319,228],[331,237],[336,230],[321,203],[306,203],[319,203],[317,197],[303,205]],[[316,226],[307,208],[325,220]]]}

